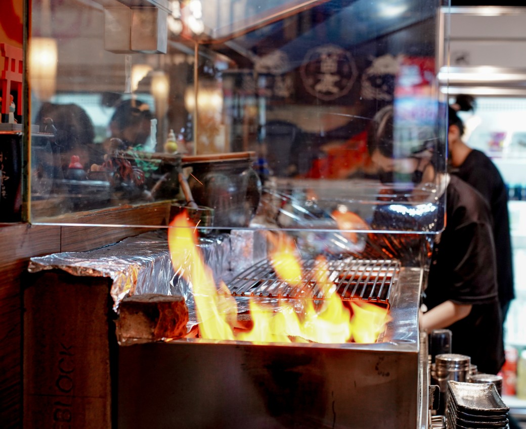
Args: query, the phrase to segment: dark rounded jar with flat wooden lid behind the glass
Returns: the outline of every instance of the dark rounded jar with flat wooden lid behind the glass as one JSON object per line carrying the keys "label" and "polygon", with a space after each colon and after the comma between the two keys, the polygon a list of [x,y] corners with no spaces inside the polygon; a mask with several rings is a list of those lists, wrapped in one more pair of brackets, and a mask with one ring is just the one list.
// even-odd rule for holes
{"label": "dark rounded jar with flat wooden lid behind the glass", "polygon": [[199,206],[214,209],[214,227],[248,227],[261,198],[261,181],[252,169],[254,152],[183,157],[192,167],[188,185]]}

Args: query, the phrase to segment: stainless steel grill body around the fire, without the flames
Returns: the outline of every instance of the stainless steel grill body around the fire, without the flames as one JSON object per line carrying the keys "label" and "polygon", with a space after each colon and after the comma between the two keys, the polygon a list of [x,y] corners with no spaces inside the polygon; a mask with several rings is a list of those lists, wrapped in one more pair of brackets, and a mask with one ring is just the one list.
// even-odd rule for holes
{"label": "stainless steel grill body around the fire, without the flames", "polygon": [[[373,268],[392,273],[390,280],[384,276],[391,320],[381,342],[263,345],[188,338],[120,347],[119,429],[429,429],[427,335],[419,335],[417,317],[423,269],[402,264],[398,271],[393,261],[364,260],[333,262],[335,269],[339,263],[348,263],[348,272],[359,268],[355,282],[375,277]],[[252,275],[252,284],[274,275],[267,261],[258,267],[267,277]],[[381,274],[376,281],[383,282]]]}

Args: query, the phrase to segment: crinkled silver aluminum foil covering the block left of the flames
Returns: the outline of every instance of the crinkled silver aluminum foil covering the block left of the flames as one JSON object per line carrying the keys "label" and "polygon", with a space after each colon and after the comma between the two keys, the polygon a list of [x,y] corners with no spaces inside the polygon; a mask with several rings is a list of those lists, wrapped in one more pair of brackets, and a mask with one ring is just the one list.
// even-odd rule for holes
{"label": "crinkled silver aluminum foil covering the block left of the flames", "polygon": [[[251,246],[252,240],[246,245]],[[232,273],[232,260],[241,260],[249,250],[236,240],[231,249],[230,235],[201,237],[198,246],[214,278],[228,279]],[[251,251],[251,250],[250,250]],[[167,230],[156,230],[129,237],[109,246],[84,252],[53,253],[31,258],[29,272],[61,269],[69,274],[108,277],[113,280],[110,294],[117,311],[120,301],[128,295],[160,293],[181,295],[191,305],[191,288],[180,279],[174,269],[168,249]]]}

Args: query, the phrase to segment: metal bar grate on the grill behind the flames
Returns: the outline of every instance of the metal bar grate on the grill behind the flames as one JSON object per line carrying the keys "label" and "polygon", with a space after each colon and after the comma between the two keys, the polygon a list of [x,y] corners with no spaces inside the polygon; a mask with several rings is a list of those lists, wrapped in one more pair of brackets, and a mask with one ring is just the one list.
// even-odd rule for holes
{"label": "metal bar grate on the grill behind the flames", "polygon": [[[290,299],[326,299],[316,282],[315,260],[304,261],[298,285],[279,279],[270,264],[263,260],[239,274],[228,289],[234,296]],[[390,306],[390,297],[398,279],[400,262],[396,260],[345,259],[328,263],[332,290],[343,300],[367,301]]]}

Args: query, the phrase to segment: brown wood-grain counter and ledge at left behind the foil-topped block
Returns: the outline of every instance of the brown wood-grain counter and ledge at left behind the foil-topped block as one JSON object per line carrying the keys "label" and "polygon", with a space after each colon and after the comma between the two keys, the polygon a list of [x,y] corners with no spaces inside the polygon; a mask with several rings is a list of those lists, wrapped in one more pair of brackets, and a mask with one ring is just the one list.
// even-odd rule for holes
{"label": "brown wood-grain counter and ledge at left behind the foil-topped block", "polygon": [[[163,226],[169,220],[169,203],[75,213],[54,219],[57,224],[0,224],[0,427],[21,429],[23,288],[29,259],[64,251],[84,251],[120,241]],[[60,223],[73,221],[77,226]],[[82,226],[85,223],[86,226]],[[89,223],[98,226],[88,226]],[[116,226],[119,224],[120,226]],[[126,225],[143,227],[127,227]],[[149,226],[149,227],[146,227]],[[36,305],[36,304],[35,304]],[[58,427],[58,426],[57,426]]]}

